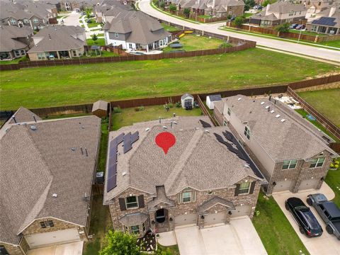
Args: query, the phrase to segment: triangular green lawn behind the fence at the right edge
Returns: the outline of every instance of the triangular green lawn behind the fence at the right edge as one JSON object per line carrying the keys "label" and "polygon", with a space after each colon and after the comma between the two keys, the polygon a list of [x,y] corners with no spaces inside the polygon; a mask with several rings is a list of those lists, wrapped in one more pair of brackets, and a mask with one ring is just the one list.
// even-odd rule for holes
{"label": "triangular green lawn behind the fence at the right edge", "polygon": [[299,96],[340,127],[340,89],[300,92]]}

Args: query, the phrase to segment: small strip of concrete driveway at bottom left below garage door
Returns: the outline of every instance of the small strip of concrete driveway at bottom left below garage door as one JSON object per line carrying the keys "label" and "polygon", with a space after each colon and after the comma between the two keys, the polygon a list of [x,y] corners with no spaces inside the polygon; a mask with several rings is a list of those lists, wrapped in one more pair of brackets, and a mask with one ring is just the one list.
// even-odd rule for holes
{"label": "small strip of concrete driveway at bottom left below garage door", "polygon": [[83,253],[83,246],[83,241],[52,245],[39,249],[31,249],[27,255],[81,255]]}

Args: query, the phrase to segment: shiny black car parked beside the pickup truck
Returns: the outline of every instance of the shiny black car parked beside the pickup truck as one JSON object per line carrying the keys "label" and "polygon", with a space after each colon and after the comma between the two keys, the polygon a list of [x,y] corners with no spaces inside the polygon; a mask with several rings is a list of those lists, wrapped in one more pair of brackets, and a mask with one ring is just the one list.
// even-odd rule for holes
{"label": "shiny black car parked beside the pickup truck", "polygon": [[322,227],[317,222],[317,218],[300,198],[288,198],[285,201],[285,209],[292,213],[299,225],[301,234],[306,234],[307,237],[320,237],[322,235]]}

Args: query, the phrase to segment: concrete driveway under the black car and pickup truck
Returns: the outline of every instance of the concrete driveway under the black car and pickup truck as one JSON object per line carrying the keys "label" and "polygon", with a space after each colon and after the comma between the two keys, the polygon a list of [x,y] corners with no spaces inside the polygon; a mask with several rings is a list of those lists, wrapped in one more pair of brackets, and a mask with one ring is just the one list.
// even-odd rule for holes
{"label": "concrete driveway under the black car and pickup truck", "polygon": [[[273,198],[276,200],[276,203],[280,206],[281,210],[285,214],[285,217],[288,218],[290,224],[293,226],[295,232],[300,237],[303,244],[310,254],[313,255],[340,255],[340,241],[336,239],[334,235],[328,234],[326,231],[326,225],[324,224],[321,217],[319,217],[318,213],[314,208],[310,207],[315,217],[319,221],[319,224],[322,226],[324,232],[321,237],[308,238],[305,234],[301,234],[299,231],[299,227],[297,226],[293,215],[291,215],[288,210],[285,210],[285,200],[291,197],[300,198],[306,205],[306,199],[309,194],[314,193],[323,193],[329,200],[334,198],[334,192],[329,188],[327,183],[323,183],[322,187],[319,191],[309,190],[303,191],[299,193],[291,193],[289,191],[284,191],[282,193],[274,193]],[[308,205],[307,205],[308,206]]]}

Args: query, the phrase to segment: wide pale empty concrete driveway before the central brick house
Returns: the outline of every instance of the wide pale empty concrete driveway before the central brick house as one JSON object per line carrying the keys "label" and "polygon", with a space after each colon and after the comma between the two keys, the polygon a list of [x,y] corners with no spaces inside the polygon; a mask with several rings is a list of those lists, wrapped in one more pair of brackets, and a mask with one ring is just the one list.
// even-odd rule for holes
{"label": "wide pale empty concrete driveway before the central brick house", "polygon": [[175,229],[181,255],[267,254],[249,217],[229,225]]}

